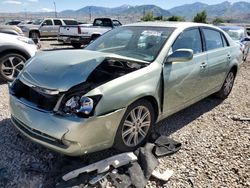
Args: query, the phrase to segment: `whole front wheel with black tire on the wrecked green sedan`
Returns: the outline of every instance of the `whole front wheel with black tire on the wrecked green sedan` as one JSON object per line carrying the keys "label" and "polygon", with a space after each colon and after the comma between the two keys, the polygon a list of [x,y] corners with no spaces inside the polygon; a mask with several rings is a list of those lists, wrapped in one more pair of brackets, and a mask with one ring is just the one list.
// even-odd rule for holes
{"label": "whole front wheel with black tire on the wrecked green sedan", "polygon": [[126,152],[143,145],[151,132],[154,119],[154,109],[149,101],[142,99],[131,104],[119,125],[114,148]]}

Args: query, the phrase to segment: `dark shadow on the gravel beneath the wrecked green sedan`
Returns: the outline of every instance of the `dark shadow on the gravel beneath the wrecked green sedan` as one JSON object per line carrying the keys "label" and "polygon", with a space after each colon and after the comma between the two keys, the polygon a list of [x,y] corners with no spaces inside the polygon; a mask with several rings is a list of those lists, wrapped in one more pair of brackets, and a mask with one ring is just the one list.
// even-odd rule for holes
{"label": "dark shadow on the gravel beneath the wrecked green sedan", "polygon": [[[160,121],[155,125],[156,132],[160,135],[171,135],[172,133],[187,126],[190,122],[199,118],[206,112],[209,112],[222,102],[221,99],[215,97],[208,97],[202,101]],[[55,179],[60,179],[65,173],[77,169],[88,164],[103,160],[112,155],[118,154],[118,151],[114,149],[107,149],[100,152],[86,154],[82,157],[68,157],[60,155],[56,152],[50,151],[49,149],[31,142],[28,138],[22,136],[12,125],[9,118],[0,121],[0,157],[1,160],[7,160],[5,166],[9,169],[11,174],[16,174],[15,168],[13,168],[12,162],[8,161],[10,158],[16,158],[18,153],[22,153],[22,156],[27,159],[18,161],[15,163],[17,169],[25,169],[23,164],[26,164],[28,168],[25,171],[18,172],[19,175],[30,174],[34,171],[34,168],[30,169],[31,161],[29,158],[35,157],[38,164],[35,164],[35,170],[38,171],[44,177],[45,187],[54,187]],[[12,152],[10,152],[12,150]],[[6,153],[11,153],[10,156],[6,156]],[[50,158],[48,159],[48,156]],[[13,160],[13,159],[12,159]],[[32,164],[32,163],[31,163]],[[44,171],[44,166],[49,169]],[[42,169],[37,169],[42,168]],[[30,171],[29,171],[30,170]]]}

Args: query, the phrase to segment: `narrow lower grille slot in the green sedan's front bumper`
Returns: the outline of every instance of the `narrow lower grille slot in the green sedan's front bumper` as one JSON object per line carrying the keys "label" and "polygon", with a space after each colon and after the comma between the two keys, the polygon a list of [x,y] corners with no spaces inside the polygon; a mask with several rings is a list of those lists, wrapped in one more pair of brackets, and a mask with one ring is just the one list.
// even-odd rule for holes
{"label": "narrow lower grille slot in the green sedan's front bumper", "polygon": [[51,137],[47,134],[44,134],[38,130],[35,129],[31,129],[30,127],[28,127],[27,125],[25,125],[24,123],[22,123],[21,121],[19,121],[18,119],[14,118],[13,116],[11,116],[11,120],[12,122],[23,132],[25,132],[26,134],[28,134],[29,136],[36,138],[38,140],[41,140],[43,142],[49,143],[51,145],[55,145],[57,147],[60,148],[67,148],[66,145],[64,145],[61,140],[58,140],[54,137]]}

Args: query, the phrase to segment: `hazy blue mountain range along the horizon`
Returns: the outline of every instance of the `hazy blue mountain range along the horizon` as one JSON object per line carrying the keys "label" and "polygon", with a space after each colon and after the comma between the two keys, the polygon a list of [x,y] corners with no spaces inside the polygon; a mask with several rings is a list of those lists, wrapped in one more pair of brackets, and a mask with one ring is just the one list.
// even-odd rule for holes
{"label": "hazy blue mountain range along the horizon", "polygon": [[230,19],[232,21],[245,21],[250,22],[250,2],[241,1],[230,3],[228,1],[220,4],[208,5],[205,3],[196,2],[193,4],[184,4],[182,6],[174,7],[168,10],[162,9],[156,5],[122,5],[115,8],[86,6],[79,10],[65,10],[60,12],[61,16],[73,17],[106,17],[106,16],[133,16],[142,17],[147,12],[153,12],[154,16],[169,17],[177,15],[185,17],[186,20],[192,20],[193,17],[200,11],[205,10],[208,18],[213,19],[220,17]]}

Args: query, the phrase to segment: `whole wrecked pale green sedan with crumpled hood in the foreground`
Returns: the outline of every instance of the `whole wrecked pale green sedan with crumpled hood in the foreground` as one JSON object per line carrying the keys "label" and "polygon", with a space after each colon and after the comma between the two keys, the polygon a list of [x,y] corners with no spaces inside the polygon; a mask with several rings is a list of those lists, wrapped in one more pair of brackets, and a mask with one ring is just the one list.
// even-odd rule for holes
{"label": "whole wrecked pale green sedan with crumpled hood in the foreground", "polygon": [[242,60],[221,29],[148,22],[113,29],[84,50],[40,53],[10,86],[15,127],[55,151],[134,150],[156,122],[230,94]]}

